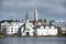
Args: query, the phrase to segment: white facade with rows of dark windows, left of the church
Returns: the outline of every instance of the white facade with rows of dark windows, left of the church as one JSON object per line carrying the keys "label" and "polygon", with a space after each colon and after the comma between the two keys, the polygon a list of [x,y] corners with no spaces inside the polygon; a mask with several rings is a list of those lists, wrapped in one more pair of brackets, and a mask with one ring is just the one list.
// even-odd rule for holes
{"label": "white facade with rows of dark windows, left of the church", "polygon": [[11,23],[8,23],[8,22],[4,22],[4,23],[1,23],[1,26],[6,26],[6,28],[1,28],[2,29],[6,29],[7,31],[7,34],[14,34],[14,33],[18,33],[18,29],[22,25],[23,23],[21,22],[11,22]]}

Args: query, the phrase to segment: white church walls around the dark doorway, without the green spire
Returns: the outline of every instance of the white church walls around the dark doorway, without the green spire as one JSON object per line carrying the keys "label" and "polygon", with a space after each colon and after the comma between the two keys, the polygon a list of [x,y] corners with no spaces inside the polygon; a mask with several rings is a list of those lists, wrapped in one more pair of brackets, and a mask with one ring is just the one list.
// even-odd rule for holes
{"label": "white church walls around the dark doorway, without the green spire", "polygon": [[33,28],[33,24],[32,23],[26,23],[25,24],[25,31],[23,32],[23,28],[22,28],[22,35],[28,35],[26,33],[29,33],[30,36],[33,36],[33,32],[34,30],[32,29]]}

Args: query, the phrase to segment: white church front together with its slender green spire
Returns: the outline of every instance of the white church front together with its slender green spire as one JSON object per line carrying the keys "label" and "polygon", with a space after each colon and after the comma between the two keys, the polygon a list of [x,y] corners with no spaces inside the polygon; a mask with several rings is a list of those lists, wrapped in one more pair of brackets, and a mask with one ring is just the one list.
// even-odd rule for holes
{"label": "white church front together with its slender green spire", "polygon": [[33,35],[33,29],[32,26],[30,25],[30,22],[29,22],[29,16],[28,16],[28,11],[26,11],[26,18],[25,18],[25,35]]}

